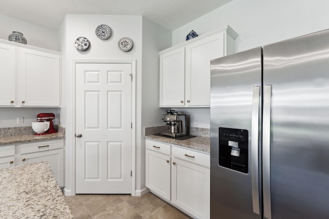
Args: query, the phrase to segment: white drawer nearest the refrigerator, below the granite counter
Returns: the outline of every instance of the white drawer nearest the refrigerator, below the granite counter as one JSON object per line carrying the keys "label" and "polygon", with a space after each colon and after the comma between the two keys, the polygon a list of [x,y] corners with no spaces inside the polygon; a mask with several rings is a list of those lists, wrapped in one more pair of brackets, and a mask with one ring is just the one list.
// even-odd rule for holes
{"label": "white drawer nearest the refrigerator, below the granite counter", "polygon": [[184,161],[210,167],[210,155],[197,151],[172,146],[172,156]]}

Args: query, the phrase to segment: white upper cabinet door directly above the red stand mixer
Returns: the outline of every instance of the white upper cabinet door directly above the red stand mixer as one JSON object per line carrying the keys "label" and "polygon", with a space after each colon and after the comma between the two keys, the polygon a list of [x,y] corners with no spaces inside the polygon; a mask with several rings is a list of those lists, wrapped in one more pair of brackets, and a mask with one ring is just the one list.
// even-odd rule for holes
{"label": "white upper cabinet door directly above the red stand mixer", "polygon": [[21,49],[21,106],[60,106],[60,56]]}

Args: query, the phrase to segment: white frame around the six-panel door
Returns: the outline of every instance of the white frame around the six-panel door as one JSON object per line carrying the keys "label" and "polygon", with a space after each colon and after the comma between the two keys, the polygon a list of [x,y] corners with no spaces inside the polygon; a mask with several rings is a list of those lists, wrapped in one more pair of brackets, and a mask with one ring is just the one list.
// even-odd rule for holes
{"label": "white frame around the six-panel door", "polygon": [[[132,196],[135,196],[136,191],[136,59],[122,59],[122,60],[107,60],[107,59],[74,59],[72,60],[72,78],[71,78],[71,92],[72,92],[72,112],[71,112],[71,133],[76,133],[76,65],[77,64],[132,64]],[[71,147],[71,186],[72,191],[76,191],[76,138],[74,138]]]}

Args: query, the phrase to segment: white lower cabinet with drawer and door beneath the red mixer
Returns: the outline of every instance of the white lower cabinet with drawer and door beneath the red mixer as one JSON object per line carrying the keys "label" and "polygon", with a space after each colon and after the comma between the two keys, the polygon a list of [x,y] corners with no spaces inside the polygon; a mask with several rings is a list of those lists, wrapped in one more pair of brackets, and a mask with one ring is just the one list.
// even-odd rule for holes
{"label": "white lower cabinet with drawer and door beneath the red mixer", "polygon": [[47,161],[59,184],[64,186],[64,140],[33,142],[17,146],[20,165]]}

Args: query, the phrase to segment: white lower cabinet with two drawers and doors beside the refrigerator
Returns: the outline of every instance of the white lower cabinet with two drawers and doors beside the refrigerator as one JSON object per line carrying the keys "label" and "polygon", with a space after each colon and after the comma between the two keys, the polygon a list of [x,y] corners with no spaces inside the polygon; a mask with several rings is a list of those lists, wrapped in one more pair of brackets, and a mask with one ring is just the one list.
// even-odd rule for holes
{"label": "white lower cabinet with two drawers and doors beside the refrigerator", "polygon": [[146,149],[146,186],[189,215],[210,218],[210,155],[151,140]]}

